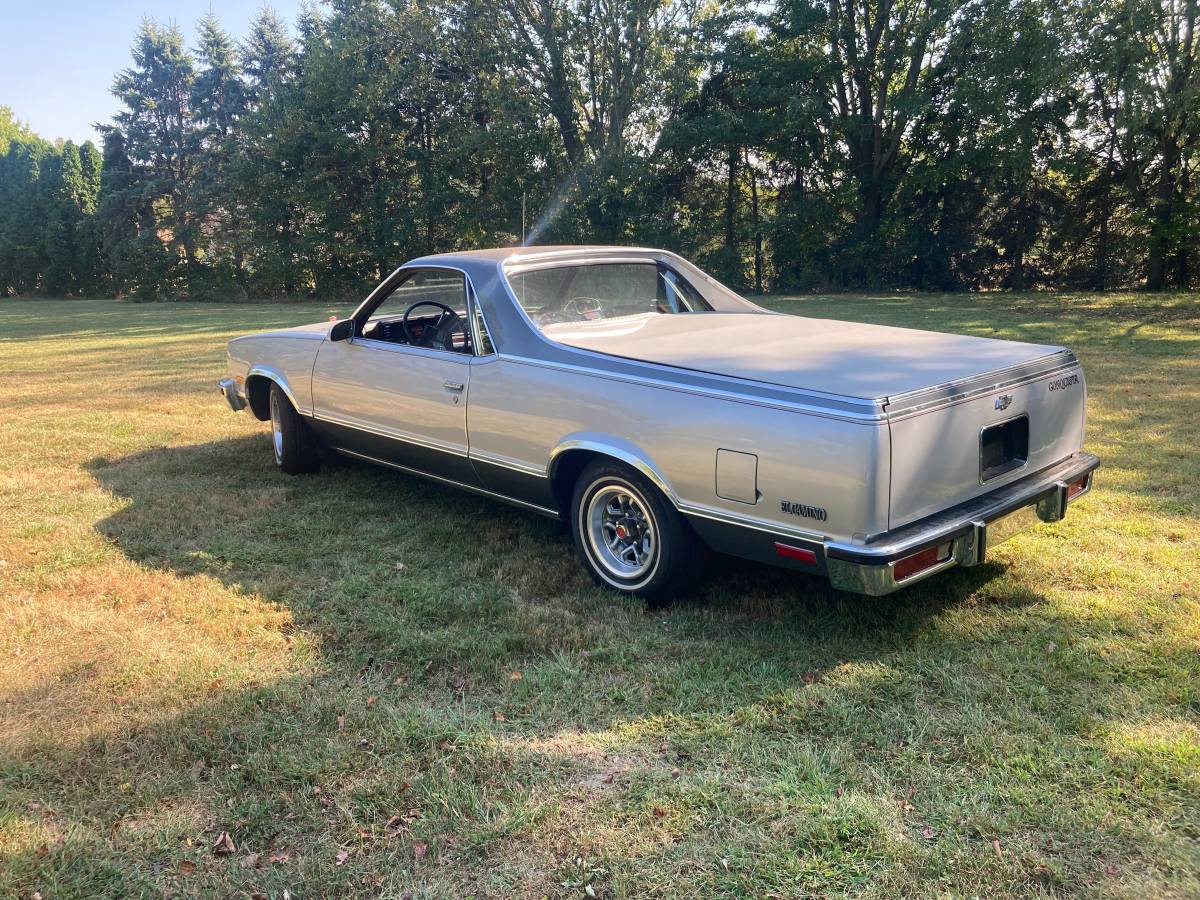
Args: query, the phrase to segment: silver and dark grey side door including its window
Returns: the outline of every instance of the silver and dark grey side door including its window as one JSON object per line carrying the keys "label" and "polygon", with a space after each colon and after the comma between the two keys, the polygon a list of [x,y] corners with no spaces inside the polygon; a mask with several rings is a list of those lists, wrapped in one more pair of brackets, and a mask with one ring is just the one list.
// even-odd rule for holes
{"label": "silver and dark grey side door including its window", "polygon": [[478,485],[467,456],[474,355],[458,271],[401,271],[354,316],[354,336],[325,341],[313,366],[316,427],[332,446]]}

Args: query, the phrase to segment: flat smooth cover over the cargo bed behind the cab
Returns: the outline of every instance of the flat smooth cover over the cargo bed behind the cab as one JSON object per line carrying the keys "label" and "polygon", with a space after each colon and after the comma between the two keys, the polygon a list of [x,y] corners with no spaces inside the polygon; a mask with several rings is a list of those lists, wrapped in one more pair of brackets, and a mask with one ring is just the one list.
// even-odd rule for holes
{"label": "flat smooth cover over the cargo bed behind the cab", "polygon": [[779,313],[647,313],[546,325],[552,341],[799,390],[884,400],[1061,347]]}

